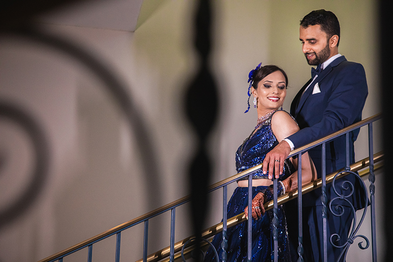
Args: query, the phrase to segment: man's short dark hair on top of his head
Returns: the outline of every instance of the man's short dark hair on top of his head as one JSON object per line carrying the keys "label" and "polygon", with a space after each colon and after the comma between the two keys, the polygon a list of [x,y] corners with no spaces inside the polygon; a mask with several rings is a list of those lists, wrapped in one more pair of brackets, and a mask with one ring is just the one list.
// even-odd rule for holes
{"label": "man's short dark hair on top of his head", "polygon": [[338,46],[340,42],[340,23],[338,23],[337,16],[333,12],[325,9],[314,10],[300,20],[300,26],[303,28],[315,25],[321,26],[321,30],[327,34],[328,39],[337,34]]}

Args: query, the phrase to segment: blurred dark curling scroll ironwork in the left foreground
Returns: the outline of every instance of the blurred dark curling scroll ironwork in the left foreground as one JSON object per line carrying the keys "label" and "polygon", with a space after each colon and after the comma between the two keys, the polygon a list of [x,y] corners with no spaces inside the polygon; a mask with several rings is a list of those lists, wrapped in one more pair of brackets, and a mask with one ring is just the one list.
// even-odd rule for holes
{"label": "blurred dark curling scroll ironwork in the left foreground", "polygon": [[[137,150],[140,152],[140,161],[145,184],[155,189],[154,197],[152,195],[146,195],[146,202],[149,206],[156,206],[157,200],[162,199],[162,192],[160,189],[160,172],[158,170],[157,159],[153,150],[152,143],[149,139],[149,130],[146,127],[144,120],[142,119],[139,110],[135,107],[132,102],[131,94],[126,91],[127,89],[119,79],[115,77],[115,74],[106,67],[101,61],[93,57],[91,54],[78,47],[74,43],[60,37],[43,33],[26,25],[29,23],[29,18],[33,17],[36,13],[48,8],[57,7],[60,4],[71,3],[75,0],[63,0],[58,1],[56,4],[45,4],[47,1],[36,1],[34,8],[28,10],[28,8],[20,8],[23,4],[31,5],[32,1],[20,1],[18,4],[8,4],[7,8],[2,9],[1,14],[10,11],[10,15],[2,16],[2,28],[0,28],[0,37],[7,36],[20,36],[28,39],[29,41],[38,42],[53,48],[59,52],[62,52],[90,69],[94,75],[99,78],[108,89],[109,93],[117,102],[118,107],[126,116],[126,119],[130,125],[132,133],[135,135],[135,141]],[[25,6],[26,7],[26,6]],[[18,9],[19,8],[19,9]],[[18,10],[21,10],[18,12]],[[24,11],[23,11],[24,10]],[[28,10],[28,11],[27,11]],[[7,20],[7,18],[9,20]],[[8,118],[12,122],[16,122],[21,126],[28,134],[29,139],[34,147],[35,154],[35,170],[32,172],[32,178],[29,181],[29,185],[26,186],[24,192],[19,193],[19,197],[6,206],[3,210],[0,210],[0,228],[5,224],[11,222],[15,218],[22,215],[31,204],[35,202],[40,192],[43,191],[44,184],[48,178],[48,167],[50,165],[49,157],[49,145],[48,137],[43,130],[42,125],[39,124],[37,119],[30,116],[26,111],[17,105],[11,105],[0,101],[0,118]],[[2,123],[4,121],[1,121]],[[0,164],[3,166],[7,163],[7,152],[0,152]],[[0,169],[0,172],[2,170]],[[149,175],[147,175],[149,174]],[[1,173],[0,173],[1,175]]]}

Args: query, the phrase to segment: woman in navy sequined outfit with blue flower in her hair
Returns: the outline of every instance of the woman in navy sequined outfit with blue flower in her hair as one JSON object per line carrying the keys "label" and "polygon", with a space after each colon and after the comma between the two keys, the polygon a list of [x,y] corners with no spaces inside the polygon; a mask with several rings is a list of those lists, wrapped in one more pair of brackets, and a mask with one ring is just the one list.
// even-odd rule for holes
{"label": "woman in navy sequined outfit with blue flower in her hair", "polygon": [[[259,64],[249,74],[249,99],[253,94],[254,107],[258,114],[257,125],[251,135],[243,142],[236,152],[236,170],[245,171],[255,165],[261,164],[267,152],[281,140],[297,132],[299,127],[292,116],[282,110],[286,95],[288,78],[278,66]],[[252,88],[251,88],[252,87]],[[250,89],[252,92],[250,93]],[[281,109],[280,109],[281,108]],[[247,113],[249,108],[245,113]],[[315,173],[314,166],[305,153],[302,156],[302,181],[310,182]],[[279,178],[279,195],[297,188],[297,160],[285,160],[283,173]],[[272,235],[273,211],[264,214],[263,203],[273,199],[273,182],[267,179],[261,171],[253,174],[253,203],[252,203],[252,261],[265,262],[273,260],[274,242]],[[245,211],[248,207],[248,178],[238,181],[231,199],[228,202],[227,217],[233,217]],[[290,261],[288,235],[286,232],[286,219],[281,206],[279,215],[279,261]],[[260,218],[259,218],[260,217]],[[240,223],[227,230],[228,248],[227,262],[247,261],[247,222]],[[221,260],[222,233],[213,238]],[[215,261],[212,248],[206,253],[205,262]]]}

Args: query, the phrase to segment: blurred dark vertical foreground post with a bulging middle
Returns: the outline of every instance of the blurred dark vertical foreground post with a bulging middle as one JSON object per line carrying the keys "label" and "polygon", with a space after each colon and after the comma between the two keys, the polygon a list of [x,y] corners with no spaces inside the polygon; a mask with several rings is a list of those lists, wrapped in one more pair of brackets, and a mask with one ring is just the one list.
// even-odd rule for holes
{"label": "blurred dark vertical foreground post with a bulging middle", "polygon": [[[200,65],[196,76],[187,87],[185,99],[187,118],[197,135],[196,153],[189,165],[189,181],[191,216],[196,237],[196,252],[193,253],[193,257],[200,261],[204,259],[204,254],[199,247],[200,241],[205,241],[202,239],[201,232],[209,204],[207,188],[212,170],[212,161],[207,154],[207,139],[214,127],[218,111],[217,88],[208,66],[211,51],[211,18],[211,2],[199,0],[194,20],[194,47],[200,58]],[[217,254],[217,251],[215,252]],[[183,251],[182,258],[184,260]],[[219,261],[218,255],[217,261]]]}

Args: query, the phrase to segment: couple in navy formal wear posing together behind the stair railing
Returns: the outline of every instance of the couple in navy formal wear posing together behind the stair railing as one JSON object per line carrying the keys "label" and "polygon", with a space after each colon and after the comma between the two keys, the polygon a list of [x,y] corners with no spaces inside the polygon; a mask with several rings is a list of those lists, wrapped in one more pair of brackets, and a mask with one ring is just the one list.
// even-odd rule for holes
{"label": "couple in navy formal wear posing together behind the stair railing", "polygon": [[[259,64],[249,74],[248,94],[253,95],[258,120],[251,135],[236,152],[236,170],[242,172],[263,162],[263,169],[253,175],[253,262],[273,260],[273,213],[269,210],[265,214],[263,203],[272,200],[273,194],[282,195],[297,188],[298,163],[297,159],[287,159],[290,151],[360,121],[368,93],[363,66],[347,61],[338,53],[340,26],[334,13],[323,9],[310,12],[301,20],[299,38],[307,62],[317,67],[312,68],[311,78],[292,101],[290,114],[281,107],[288,85],[287,76],[281,68]],[[349,133],[351,163],[355,161],[353,144],[358,133]],[[321,177],[321,150],[321,146],[317,146],[302,156],[303,184]],[[345,164],[345,137],[341,136],[326,144],[326,174],[345,167]],[[279,192],[273,192],[273,175],[279,179]],[[355,189],[359,188],[354,175],[339,180],[349,180]],[[228,218],[248,212],[247,186],[248,180],[238,181],[238,187],[228,203]],[[327,185],[327,193],[328,197],[335,196],[330,185]],[[359,190],[355,190],[350,199],[355,209],[364,207],[362,199],[364,197]],[[343,208],[342,216],[328,213],[328,238],[333,233],[344,238],[348,236],[353,216],[349,207]],[[297,200],[279,206],[279,261],[298,259],[297,212]],[[304,260],[323,261],[320,188],[303,196],[303,225]],[[229,228],[227,239],[227,261],[247,261],[247,223]],[[217,250],[221,241],[221,233],[213,239]],[[342,245],[345,241],[341,238],[336,244]],[[333,247],[328,239],[328,261],[336,261],[340,252],[341,249]],[[205,261],[214,261],[213,254],[210,248]],[[221,251],[219,256],[221,259]]]}

